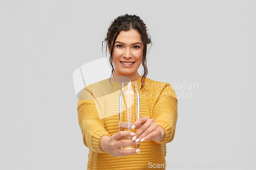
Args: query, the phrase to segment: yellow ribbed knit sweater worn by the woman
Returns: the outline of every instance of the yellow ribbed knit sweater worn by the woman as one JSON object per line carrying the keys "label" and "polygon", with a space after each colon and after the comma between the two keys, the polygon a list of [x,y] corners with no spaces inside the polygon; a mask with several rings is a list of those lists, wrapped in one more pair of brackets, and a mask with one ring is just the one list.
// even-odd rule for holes
{"label": "yellow ribbed knit sweater worn by the woman", "polygon": [[174,139],[178,118],[178,100],[169,83],[145,78],[141,87],[142,76],[137,82],[140,95],[140,117],[154,118],[165,129],[163,141],[148,140],[140,142],[140,153],[114,157],[99,148],[99,139],[103,135],[111,136],[119,131],[119,94],[122,83],[104,79],[83,88],[77,106],[78,122],[83,143],[89,148],[88,169],[148,169],[159,164],[158,169],[165,169],[166,144]]}

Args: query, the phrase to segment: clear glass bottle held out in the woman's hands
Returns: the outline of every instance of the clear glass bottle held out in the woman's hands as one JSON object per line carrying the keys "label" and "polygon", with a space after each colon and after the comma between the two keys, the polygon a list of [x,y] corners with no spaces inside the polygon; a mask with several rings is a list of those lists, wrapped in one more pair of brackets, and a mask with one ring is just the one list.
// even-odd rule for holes
{"label": "clear glass bottle held out in the woman's hands", "polygon": [[[132,124],[140,118],[140,95],[137,91],[137,82],[122,82],[122,91],[119,95],[119,131],[130,131]],[[132,140],[132,137],[120,140]],[[122,150],[139,149],[140,144],[126,146]]]}

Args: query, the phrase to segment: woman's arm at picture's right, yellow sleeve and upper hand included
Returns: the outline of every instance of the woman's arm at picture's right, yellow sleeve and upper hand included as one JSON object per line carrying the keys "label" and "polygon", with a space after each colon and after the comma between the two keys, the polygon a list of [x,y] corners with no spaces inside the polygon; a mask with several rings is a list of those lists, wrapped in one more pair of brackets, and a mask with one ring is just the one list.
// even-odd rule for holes
{"label": "woman's arm at picture's right, yellow sleeve and upper hand included", "polygon": [[154,140],[167,143],[173,140],[178,118],[178,100],[170,84],[166,84],[154,106],[152,118],[139,118],[132,128],[138,129],[135,141]]}

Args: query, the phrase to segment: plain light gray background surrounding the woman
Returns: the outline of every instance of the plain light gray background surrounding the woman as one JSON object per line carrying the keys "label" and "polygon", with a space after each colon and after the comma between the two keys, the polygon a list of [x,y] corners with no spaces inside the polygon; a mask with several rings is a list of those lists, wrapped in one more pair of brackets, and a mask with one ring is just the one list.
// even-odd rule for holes
{"label": "plain light gray background surrounding the woman", "polygon": [[180,94],[167,169],[255,169],[255,5],[1,1],[0,169],[86,169],[72,74],[125,13],[152,36],[147,77]]}

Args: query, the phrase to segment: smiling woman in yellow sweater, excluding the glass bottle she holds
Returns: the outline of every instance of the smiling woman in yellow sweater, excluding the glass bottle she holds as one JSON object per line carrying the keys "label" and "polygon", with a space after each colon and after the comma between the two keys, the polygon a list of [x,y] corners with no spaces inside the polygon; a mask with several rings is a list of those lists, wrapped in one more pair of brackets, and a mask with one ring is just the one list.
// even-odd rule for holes
{"label": "smiling woman in yellow sweater, excluding the glass bottle she holds", "polygon": [[[159,164],[165,169],[166,143],[174,139],[178,100],[169,83],[146,77],[147,45],[151,44],[146,25],[139,16],[119,16],[103,42],[109,49],[112,75],[84,87],[77,106],[83,143],[89,148],[87,168],[138,170]],[[138,72],[141,64],[142,76]],[[138,85],[140,118],[132,126],[135,133],[119,131],[122,85],[112,77],[124,77]],[[132,140],[120,140],[127,136]],[[140,149],[121,149],[138,143]]]}

